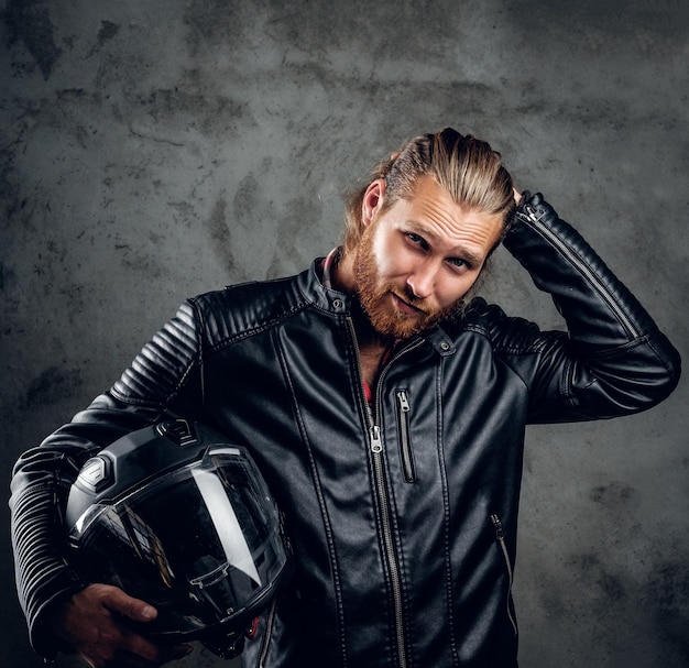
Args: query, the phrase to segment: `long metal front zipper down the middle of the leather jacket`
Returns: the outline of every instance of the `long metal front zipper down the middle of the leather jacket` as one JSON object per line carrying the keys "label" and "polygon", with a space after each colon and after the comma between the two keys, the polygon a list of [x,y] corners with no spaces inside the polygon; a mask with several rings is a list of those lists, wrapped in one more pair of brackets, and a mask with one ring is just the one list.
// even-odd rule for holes
{"label": "long metal front zipper down the middle of the leather jacket", "polygon": [[[351,340],[354,343],[354,348],[357,350],[357,360],[360,360],[359,352],[359,342],[357,341],[357,333],[354,331],[354,326],[351,319],[348,319],[349,330]],[[375,409],[372,410],[369,406],[368,402],[363,399],[365,410],[364,414],[367,416],[368,425],[369,425],[369,447],[371,449],[371,459],[373,462],[373,486],[375,490],[375,494],[379,501],[380,508],[380,519],[381,519],[381,528],[382,528],[382,541],[383,541],[383,558],[387,566],[387,572],[390,573],[390,585],[393,598],[393,609],[394,609],[394,634],[395,634],[395,650],[397,654],[397,668],[407,668],[408,659],[407,659],[407,647],[406,647],[406,638],[404,633],[404,602],[402,599],[402,574],[400,572],[400,563],[397,561],[397,554],[395,551],[395,541],[392,529],[392,512],[390,507],[390,496],[387,494],[387,481],[385,478],[385,468],[383,466],[383,439],[381,436],[381,427],[380,427],[380,388],[383,382],[383,376],[385,375],[386,370],[390,365],[397,359],[400,359],[404,353],[411,351],[412,349],[420,346],[423,339],[416,339],[412,344],[403,348],[397,351],[392,359],[387,361],[385,368],[381,371],[378,383],[375,384],[373,402]],[[361,381],[361,363],[359,362],[359,385],[362,387]],[[360,390],[360,396],[363,395],[363,392]]]}

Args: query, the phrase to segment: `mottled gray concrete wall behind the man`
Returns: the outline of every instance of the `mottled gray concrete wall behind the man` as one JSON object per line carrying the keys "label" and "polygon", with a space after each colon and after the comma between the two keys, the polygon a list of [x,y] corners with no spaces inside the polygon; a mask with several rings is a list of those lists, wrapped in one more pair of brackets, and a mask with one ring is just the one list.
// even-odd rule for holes
{"label": "mottled gray concrete wall behind the man", "polygon": [[[344,189],[446,124],[547,194],[688,357],[683,0],[1,4],[3,480],[183,298],[306,266]],[[486,292],[559,324],[505,254]],[[523,666],[689,665],[688,427],[683,382],[529,430]],[[1,536],[0,665],[37,667]]]}

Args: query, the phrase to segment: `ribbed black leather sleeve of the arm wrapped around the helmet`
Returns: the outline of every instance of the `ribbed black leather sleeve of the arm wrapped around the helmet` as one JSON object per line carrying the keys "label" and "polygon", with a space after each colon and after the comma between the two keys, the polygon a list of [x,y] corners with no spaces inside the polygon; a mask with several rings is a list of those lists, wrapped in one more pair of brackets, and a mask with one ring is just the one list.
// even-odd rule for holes
{"label": "ribbed black leather sleeve of the arm wrapped around the helmet", "polygon": [[201,410],[200,331],[201,318],[187,302],[109,392],[14,466],[10,510],[17,588],[31,643],[43,656],[59,649],[45,623],[52,606],[86,585],[64,554],[69,488],[86,460],[120,436],[166,417],[194,418]]}

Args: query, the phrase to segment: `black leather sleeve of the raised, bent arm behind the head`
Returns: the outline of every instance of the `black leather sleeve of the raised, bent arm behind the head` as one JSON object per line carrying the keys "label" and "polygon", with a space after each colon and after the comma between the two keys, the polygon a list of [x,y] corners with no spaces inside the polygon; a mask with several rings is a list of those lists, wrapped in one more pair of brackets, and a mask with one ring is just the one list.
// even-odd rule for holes
{"label": "black leather sleeve of the raised, bent arm behind the head", "polygon": [[638,413],[672,392],[680,375],[677,350],[540,194],[525,194],[504,245],[551,295],[568,329],[534,335],[515,327],[501,341],[503,350],[518,351],[511,359],[529,385],[529,421]]}

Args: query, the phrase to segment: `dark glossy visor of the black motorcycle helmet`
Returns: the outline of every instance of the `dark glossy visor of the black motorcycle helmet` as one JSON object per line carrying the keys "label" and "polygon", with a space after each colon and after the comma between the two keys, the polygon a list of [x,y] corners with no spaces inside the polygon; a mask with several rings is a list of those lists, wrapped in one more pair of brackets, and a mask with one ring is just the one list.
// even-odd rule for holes
{"label": "dark glossy visor of the black motorcycle helmet", "polygon": [[70,543],[94,581],[157,607],[146,624],[156,634],[245,624],[287,561],[277,511],[240,448],[210,449],[111,505],[92,506]]}

